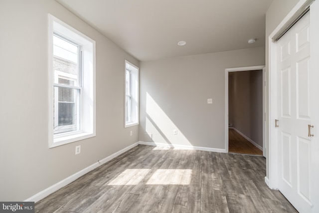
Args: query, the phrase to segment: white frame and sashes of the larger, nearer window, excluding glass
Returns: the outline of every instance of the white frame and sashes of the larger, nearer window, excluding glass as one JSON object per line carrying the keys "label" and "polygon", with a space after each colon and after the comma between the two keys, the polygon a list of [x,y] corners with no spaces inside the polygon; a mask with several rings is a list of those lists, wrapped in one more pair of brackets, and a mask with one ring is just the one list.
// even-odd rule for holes
{"label": "white frame and sashes of the larger, nearer window, excluding glass", "polygon": [[[53,35],[78,45],[78,84],[64,85],[54,82]],[[81,52],[81,54],[79,54]],[[58,71],[57,71],[58,73]],[[67,76],[66,76],[67,77]],[[63,78],[63,77],[62,77]],[[69,79],[71,80],[71,79]],[[95,41],[58,18],[48,14],[48,142],[49,148],[96,136],[95,102]],[[54,88],[76,89],[80,93],[79,128],[71,132],[54,133]],[[73,91],[76,92],[76,91]],[[76,101],[76,100],[75,100]],[[59,101],[57,101],[59,102]],[[67,128],[67,127],[66,127]]]}

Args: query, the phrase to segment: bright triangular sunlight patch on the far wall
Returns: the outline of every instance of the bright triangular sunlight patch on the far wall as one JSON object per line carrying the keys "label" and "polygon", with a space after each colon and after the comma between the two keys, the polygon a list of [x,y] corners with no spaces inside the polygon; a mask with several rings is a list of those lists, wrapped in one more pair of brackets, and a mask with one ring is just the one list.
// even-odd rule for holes
{"label": "bright triangular sunlight patch on the far wall", "polygon": [[[146,93],[146,113],[145,130],[152,134],[154,143],[192,146],[149,93]],[[173,130],[177,130],[177,135],[173,134]]]}

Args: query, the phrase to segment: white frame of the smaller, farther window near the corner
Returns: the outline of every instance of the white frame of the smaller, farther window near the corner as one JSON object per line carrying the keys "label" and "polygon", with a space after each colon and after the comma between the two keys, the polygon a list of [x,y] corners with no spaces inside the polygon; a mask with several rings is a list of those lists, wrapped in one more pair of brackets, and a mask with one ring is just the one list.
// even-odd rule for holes
{"label": "white frame of the smaller, farther window near the corner", "polygon": [[[133,69],[128,68],[128,64],[132,66]],[[127,94],[127,84],[126,84],[126,78],[127,78],[127,71],[130,73],[130,94]],[[132,64],[130,61],[125,60],[125,69],[124,69],[124,127],[131,127],[136,126],[140,124],[140,100],[139,100],[139,93],[140,93],[140,73],[139,73],[139,67]],[[131,97],[131,107],[129,108],[127,106],[127,97]],[[129,116],[131,119],[129,121],[126,121],[126,118]]]}

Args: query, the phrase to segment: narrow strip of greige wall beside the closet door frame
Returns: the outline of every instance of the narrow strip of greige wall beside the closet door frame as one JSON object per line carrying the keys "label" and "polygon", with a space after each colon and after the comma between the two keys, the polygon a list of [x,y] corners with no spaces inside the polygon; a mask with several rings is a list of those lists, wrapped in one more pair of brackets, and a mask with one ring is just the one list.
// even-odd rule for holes
{"label": "narrow strip of greige wall beside the closet door frame", "polygon": [[[265,56],[266,56],[266,71],[265,71],[265,78],[266,82],[268,82],[268,63],[269,63],[269,35],[275,30],[275,28],[279,25],[279,23],[285,18],[285,16],[294,8],[294,6],[299,2],[300,0],[274,0],[270,7],[268,8],[266,12],[266,44],[265,44]],[[268,121],[268,86],[266,88],[266,159],[267,159],[267,177],[269,177],[269,168],[268,168],[268,123],[273,121]]]}

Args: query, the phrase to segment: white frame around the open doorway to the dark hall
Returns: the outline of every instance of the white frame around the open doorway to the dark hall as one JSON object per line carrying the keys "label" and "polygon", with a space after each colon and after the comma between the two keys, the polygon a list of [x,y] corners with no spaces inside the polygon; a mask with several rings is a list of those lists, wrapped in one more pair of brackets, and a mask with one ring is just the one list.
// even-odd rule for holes
{"label": "white frame around the open doorway to the dark hall", "polygon": [[228,133],[228,73],[229,72],[239,72],[239,71],[249,71],[249,70],[263,70],[263,155],[266,157],[266,146],[265,146],[265,65],[259,66],[246,66],[246,67],[235,67],[235,68],[226,68],[225,69],[225,150],[228,153],[228,144],[229,144],[229,133]]}

